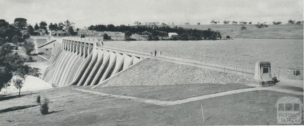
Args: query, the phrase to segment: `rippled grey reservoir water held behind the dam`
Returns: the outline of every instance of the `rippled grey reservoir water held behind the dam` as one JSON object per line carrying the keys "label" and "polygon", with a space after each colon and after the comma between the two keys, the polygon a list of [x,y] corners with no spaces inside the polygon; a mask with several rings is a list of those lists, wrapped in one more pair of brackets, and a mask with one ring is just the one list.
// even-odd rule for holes
{"label": "rippled grey reservoir water held behind the dam", "polygon": [[303,69],[303,39],[243,39],[201,41],[104,41],[104,46],[154,52],[200,61],[255,65],[270,61],[272,68]]}

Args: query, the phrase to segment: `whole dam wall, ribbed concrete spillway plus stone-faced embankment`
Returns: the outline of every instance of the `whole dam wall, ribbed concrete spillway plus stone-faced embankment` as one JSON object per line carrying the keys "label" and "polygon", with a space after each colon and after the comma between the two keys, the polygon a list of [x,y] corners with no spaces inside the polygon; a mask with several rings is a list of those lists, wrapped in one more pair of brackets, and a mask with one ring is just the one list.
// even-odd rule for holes
{"label": "whole dam wall, ribbed concrete spillway plus stone-faced embankment", "polygon": [[[47,62],[49,67],[43,76],[43,80],[54,87],[252,84],[255,75],[254,68],[164,55],[153,56],[144,52],[105,47],[102,41],[92,38],[63,37],[56,38],[55,43],[52,59]],[[154,74],[158,77],[151,77]]]}

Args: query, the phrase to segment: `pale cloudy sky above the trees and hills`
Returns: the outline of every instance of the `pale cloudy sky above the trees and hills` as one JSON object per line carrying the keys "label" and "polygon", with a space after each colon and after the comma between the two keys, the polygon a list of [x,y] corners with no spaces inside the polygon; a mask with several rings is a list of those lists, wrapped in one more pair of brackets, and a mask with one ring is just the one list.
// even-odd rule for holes
{"label": "pale cloudy sky above the trees and hills", "polygon": [[0,0],[0,19],[13,23],[26,18],[58,23],[69,20],[77,28],[96,24],[133,25],[134,22],[186,22],[211,20],[283,22],[303,20],[303,0]]}

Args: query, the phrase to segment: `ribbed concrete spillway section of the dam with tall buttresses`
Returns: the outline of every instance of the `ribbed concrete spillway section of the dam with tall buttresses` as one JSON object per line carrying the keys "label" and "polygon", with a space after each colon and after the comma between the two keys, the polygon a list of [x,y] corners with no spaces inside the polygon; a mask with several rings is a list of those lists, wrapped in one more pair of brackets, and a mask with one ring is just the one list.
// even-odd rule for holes
{"label": "ribbed concrete spillway section of the dam with tall buttresses", "polygon": [[43,80],[54,87],[98,85],[144,58],[101,48],[98,40],[57,38],[60,52]]}

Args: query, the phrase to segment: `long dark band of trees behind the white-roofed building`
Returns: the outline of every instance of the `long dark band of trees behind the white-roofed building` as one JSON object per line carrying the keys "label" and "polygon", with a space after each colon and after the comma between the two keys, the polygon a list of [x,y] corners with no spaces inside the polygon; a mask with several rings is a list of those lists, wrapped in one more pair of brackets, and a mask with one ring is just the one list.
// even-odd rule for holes
{"label": "long dark band of trees behind the white-roofed building", "polygon": [[178,40],[216,40],[217,38],[222,38],[219,31],[212,31],[210,28],[207,30],[198,30],[198,29],[186,29],[178,26],[174,26],[173,28],[169,26],[161,26],[150,25],[150,26],[126,26],[119,25],[114,26],[112,24],[109,25],[91,25],[88,27],[88,30],[95,31],[116,31],[123,32],[125,34],[125,39],[130,39],[130,34],[138,34],[138,35],[148,35],[148,40],[159,40],[159,37],[168,37],[169,32],[175,32],[180,37],[174,38]]}

